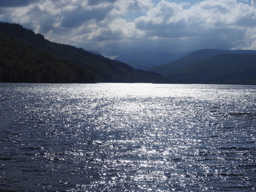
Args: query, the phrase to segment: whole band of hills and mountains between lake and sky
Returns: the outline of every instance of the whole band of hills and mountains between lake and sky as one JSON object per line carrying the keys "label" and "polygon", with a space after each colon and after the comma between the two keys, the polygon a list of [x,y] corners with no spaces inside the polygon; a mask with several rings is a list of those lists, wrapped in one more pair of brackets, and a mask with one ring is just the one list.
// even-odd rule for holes
{"label": "whole band of hills and mountains between lake and sky", "polygon": [[256,84],[255,50],[146,51],[114,60],[0,23],[0,82]]}

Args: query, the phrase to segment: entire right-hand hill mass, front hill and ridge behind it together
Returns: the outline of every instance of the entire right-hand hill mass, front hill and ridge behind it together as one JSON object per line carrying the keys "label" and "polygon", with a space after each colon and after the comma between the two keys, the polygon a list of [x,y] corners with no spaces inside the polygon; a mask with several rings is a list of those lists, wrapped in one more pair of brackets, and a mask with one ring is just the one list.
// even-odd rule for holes
{"label": "entire right-hand hill mass, front hill and ridge behind it together", "polygon": [[183,83],[256,84],[256,51],[201,49],[148,70]]}

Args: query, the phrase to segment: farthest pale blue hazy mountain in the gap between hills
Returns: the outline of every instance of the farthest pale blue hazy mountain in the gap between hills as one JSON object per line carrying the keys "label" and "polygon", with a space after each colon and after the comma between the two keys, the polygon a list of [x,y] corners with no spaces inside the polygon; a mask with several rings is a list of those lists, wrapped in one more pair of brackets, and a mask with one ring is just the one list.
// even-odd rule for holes
{"label": "farthest pale blue hazy mountain in the gap between hills", "polygon": [[154,66],[162,65],[167,62],[171,62],[179,59],[186,55],[187,52],[183,53],[162,53],[162,52],[153,52],[153,51],[145,51],[135,54],[125,54],[119,57],[116,57],[114,60],[118,60],[133,68],[139,69],[148,69]]}

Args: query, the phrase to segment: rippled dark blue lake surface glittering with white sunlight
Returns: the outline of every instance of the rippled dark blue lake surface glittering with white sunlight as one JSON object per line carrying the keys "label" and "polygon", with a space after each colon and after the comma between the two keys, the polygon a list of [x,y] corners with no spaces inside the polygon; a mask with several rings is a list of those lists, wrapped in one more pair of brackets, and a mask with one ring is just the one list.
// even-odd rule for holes
{"label": "rippled dark blue lake surface glittering with white sunlight", "polygon": [[0,84],[0,191],[255,191],[256,86]]}

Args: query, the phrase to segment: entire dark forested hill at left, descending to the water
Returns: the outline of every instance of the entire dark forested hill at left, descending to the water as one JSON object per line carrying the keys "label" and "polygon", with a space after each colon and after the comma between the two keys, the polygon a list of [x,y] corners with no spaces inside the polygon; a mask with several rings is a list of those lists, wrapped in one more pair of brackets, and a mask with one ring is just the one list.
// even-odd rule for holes
{"label": "entire dark forested hill at left, descending to the water", "polygon": [[[73,75],[74,79],[71,82],[166,82],[166,80],[163,80],[163,77],[160,74],[133,69],[132,67],[123,62],[111,60],[101,55],[87,52],[82,48],[76,48],[71,45],[50,42],[44,39],[43,35],[35,34],[32,30],[23,28],[19,24],[0,22],[0,31],[9,35],[6,36],[6,41],[4,41],[3,39],[1,40],[1,48],[6,49],[6,46],[8,47],[7,44],[10,44],[10,46],[13,45],[12,47],[8,47],[8,52],[1,53],[1,82],[6,82],[7,79],[9,79],[8,82],[45,82],[45,79],[48,79],[48,82],[59,82],[59,80],[56,80],[58,78],[55,77],[53,74],[59,73],[60,76],[63,76],[64,72],[59,70],[60,68],[67,69],[66,72],[71,70],[75,74],[76,71],[84,73],[82,75],[80,74],[79,77]],[[5,36],[4,33],[1,33],[1,36]],[[8,43],[8,41],[12,43]],[[16,46],[15,44],[18,44],[19,46]],[[22,52],[23,55],[20,55],[20,49],[25,50],[24,52]],[[42,71],[40,67],[39,68],[41,71],[38,69],[39,75],[37,77],[31,77],[31,79],[28,79],[29,77],[25,76],[27,71],[34,70],[34,65],[40,66],[40,59],[47,57],[48,59],[44,61],[45,63],[48,62],[48,65],[51,66],[51,68],[54,68],[54,72],[48,72],[53,75],[52,77],[55,79],[55,81],[51,81],[51,78],[46,78],[44,75],[42,75],[41,72],[43,73],[44,70]],[[30,59],[36,62],[30,62]],[[55,60],[56,63],[53,64],[49,62],[51,60]],[[29,63],[29,65],[25,66],[27,65],[27,63]],[[61,63],[61,65],[63,66],[60,67],[60,65],[58,66],[57,63]],[[65,67],[63,63],[66,63]],[[77,70],[79,67],[80,70]],[[20,68],[22,68],[22,73],[18,72]],[[70,70],[68,70],[68,68],[70,68]],[[44,72],[44,74],[45,73],[46,72]],[[9,76],[7,77],[7,75]],[[18,78],[18,76],[20,80],[16,79],[16,77]],[[81,80],[81,76],[84,76],[84,80]],[[39,77],[41,77],[41,79]],[[66,80],[63,82],[66,82]]]}

